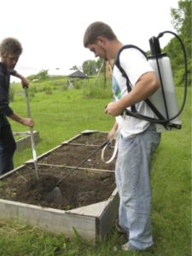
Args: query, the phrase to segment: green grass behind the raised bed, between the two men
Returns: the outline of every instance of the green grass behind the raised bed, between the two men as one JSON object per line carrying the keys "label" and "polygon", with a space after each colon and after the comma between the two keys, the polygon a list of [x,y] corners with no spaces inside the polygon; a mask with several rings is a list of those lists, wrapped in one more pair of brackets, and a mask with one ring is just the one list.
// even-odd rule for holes
{"label": "green grass behind the raised bed, between the two men", "polygon": [[[64,140],[86,129],[108,131],[113,119],[103,113],[111,99],[84,99],[82,90],[54,90],[30,97],[30,108],[35,121],[34,131],[39,131],[38,155],[54,148]],[[25,96],[17,96],[11,107],[26,116]],[[13,131],[27,131],[26,126],[11,121]],[[15,154],[15,166],[31,158],[31,148]]]}

